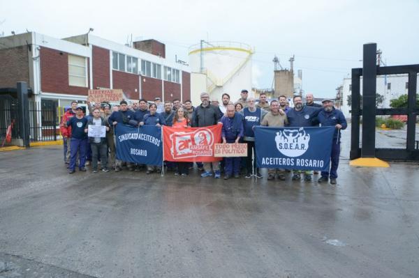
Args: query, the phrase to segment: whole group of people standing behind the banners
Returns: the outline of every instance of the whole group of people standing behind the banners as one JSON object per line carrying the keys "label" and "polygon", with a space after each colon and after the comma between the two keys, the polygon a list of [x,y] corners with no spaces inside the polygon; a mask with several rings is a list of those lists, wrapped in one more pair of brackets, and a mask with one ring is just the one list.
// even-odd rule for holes
{"label": "whole group of people standing behind the banners", "polygon": [[[202,177],[240,178],[241,171],[245,171],[245,178],[262,178],[260,169],[256,165],[256,146],[254,128],[258,125],[270,127],[311,127],[311,126],[335,126],[331,163],[329,171],[322,171],[318,183],[335,184],[337,181],[337,168],[340,153],[340,130],[346,128],[346,120],[339,109],[334,107],[332,100],[325,99],[322,105],[314,103],[312,94],[306,95],[303,103],[300,95],[293,97],[293,106],[289,107],[285,95],[279,96],[278,100],[267,102],[267,95],[260,93],[259,100],[248,96],[247,90],[242,90],[241,98],[236,102],[230,101],[230,95],[221,95],[221,104],[216,99],[210,100],[208,93],[201,93],[201,104],[193,107],[191,100],[183,104],[175,99],[166,101],[161,108],[161,99],[156,98],[154,103],[148,104],[147,100],[141,99],[138,103],[128,106],[122,100],[119,106],[110,107],[95,103],[89,105],[89,111],[84,115],[82,107],[77,102],[72,102],[71,107],[64,114],[61,121],[61,134],[64,138],[64,160],[68,164],[69,173],[75,172],[76,162],[80,171],[86,171],[86,163],[91,163],[91,171],[98,171],[98,163],[101,163],[102,171],[121,171],[126,165],[128,171],[140,171],[146,169],[146,173],[161,171],[159,167],[150,165],[133,164],[122,162],[115,157],[115,125],[127,124],[141,125],[168,125],[172,127],[203,128],[210,125],[222,124],[221,141],[228,143],[247,144],[247,157],[224,157],[221,162],[197,162],[197,167],[203,173]],[[87,137],[88,125],[104,125],[106,137]],[[175,175],[186,176],[193,167],[192,162],[165,162],[166,167],[175,171]],[[285,180],[285,169],[268,169],[267,180]],[[300,180],[304,173],[304,180],[311,180],[311,171],[293,171],[292,180]]]}

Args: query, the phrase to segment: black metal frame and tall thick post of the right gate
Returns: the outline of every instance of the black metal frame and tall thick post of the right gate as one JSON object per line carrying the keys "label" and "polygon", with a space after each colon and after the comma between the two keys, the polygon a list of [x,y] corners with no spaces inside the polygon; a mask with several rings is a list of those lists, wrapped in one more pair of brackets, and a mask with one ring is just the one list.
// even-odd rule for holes
{"label": "black metal frame and tall thick post of the right gate", "polygon": [[[367,48],[366,48],[367,47]],[[368,48],[369,47],[369,48]],[[375,49],[374,49],[375,47]],[[367,53],[366,53],[367,52]],[[369,52],[369,53],[368,53]],[[417,115],[419,107],[417,105],[417,84],[419,65],[397,65],[380,67],[375,65],[376,45],[365,45],[364,61],[369,59],[372,63],[364,68],[352,69],[352,123],[351,123],[351,160],[359,157],[377,157],[382,160],[401,160],[401,161],[419,161],[419,141],[416,134]],[[376,77],[380,75],[407,75],[408,82],[407,102],[402,108],[376,108]],[[360,93],[360,84],[362,77],[363,99]],[[374,98],[374,100],[372,99]],[[366,100],[367,99],[367,100]],[[365,104],[368,102],[368,105]],[[362,111],[362,108],[365,111]],[[387,147],[376,148],[376,116],[406,115],[407,129],[404,134],[402,148]],[[364,118],[362,118],[364,116]],[[375,119],[375,120],[374,120]],[[362,123],[362,129],[360,124]],[[362,130],[362,147],[360,147],[360,131]]]}

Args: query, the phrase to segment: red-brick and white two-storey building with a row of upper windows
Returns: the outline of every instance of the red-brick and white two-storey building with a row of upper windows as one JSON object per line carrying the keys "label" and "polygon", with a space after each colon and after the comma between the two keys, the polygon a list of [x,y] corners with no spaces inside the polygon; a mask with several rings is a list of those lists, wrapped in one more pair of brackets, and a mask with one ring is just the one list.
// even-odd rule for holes
{"label": "red-brick and white two-storey building with a row of upper windows", "polygon": [[191,98],[189,67],[166,59],[166,45],[157,40],[133,47],[91,34],[52,38],[29,32],[0,38],[0,88],[24,81],[37,102],[57,106],[87,100],[96,88],[122,89],[128,101]]}

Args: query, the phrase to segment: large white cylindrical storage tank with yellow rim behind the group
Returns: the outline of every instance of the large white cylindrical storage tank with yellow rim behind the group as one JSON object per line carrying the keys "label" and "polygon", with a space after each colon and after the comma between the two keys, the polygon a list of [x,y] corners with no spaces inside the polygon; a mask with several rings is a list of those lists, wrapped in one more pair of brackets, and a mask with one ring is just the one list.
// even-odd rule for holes
{"label": "large white cylindrical storage tank with yellow rim behind the group", "polygon": [[204,91],[219,102],[223,93],[228,93],[235,102],[244,88],[250,95],[252,54],[253,49],[245,43],[201,40],[189,47],[193,105],[200,103],[200,93]]}

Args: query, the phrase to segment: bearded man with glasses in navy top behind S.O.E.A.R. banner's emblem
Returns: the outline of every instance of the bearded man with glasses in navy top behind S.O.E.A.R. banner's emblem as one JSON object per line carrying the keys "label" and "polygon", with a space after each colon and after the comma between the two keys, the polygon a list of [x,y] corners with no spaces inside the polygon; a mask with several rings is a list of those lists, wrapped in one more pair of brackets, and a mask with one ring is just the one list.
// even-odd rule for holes
{"label": "bearded man with glasses in navy top behind S.O.E.A.R. banner's emblem", "polygon": [[[286,114],[288,118],[288,126],[300,128],[316,125],[317,115],[321,111],[321,108],[302,105],[302,98],[300,95],[294,95],[293,102],[294,108],[290,109]],[[301,171],[293,171],[292,179],[300,180]],[[304,180],[311,180],[311,171],[304,171]]]}

